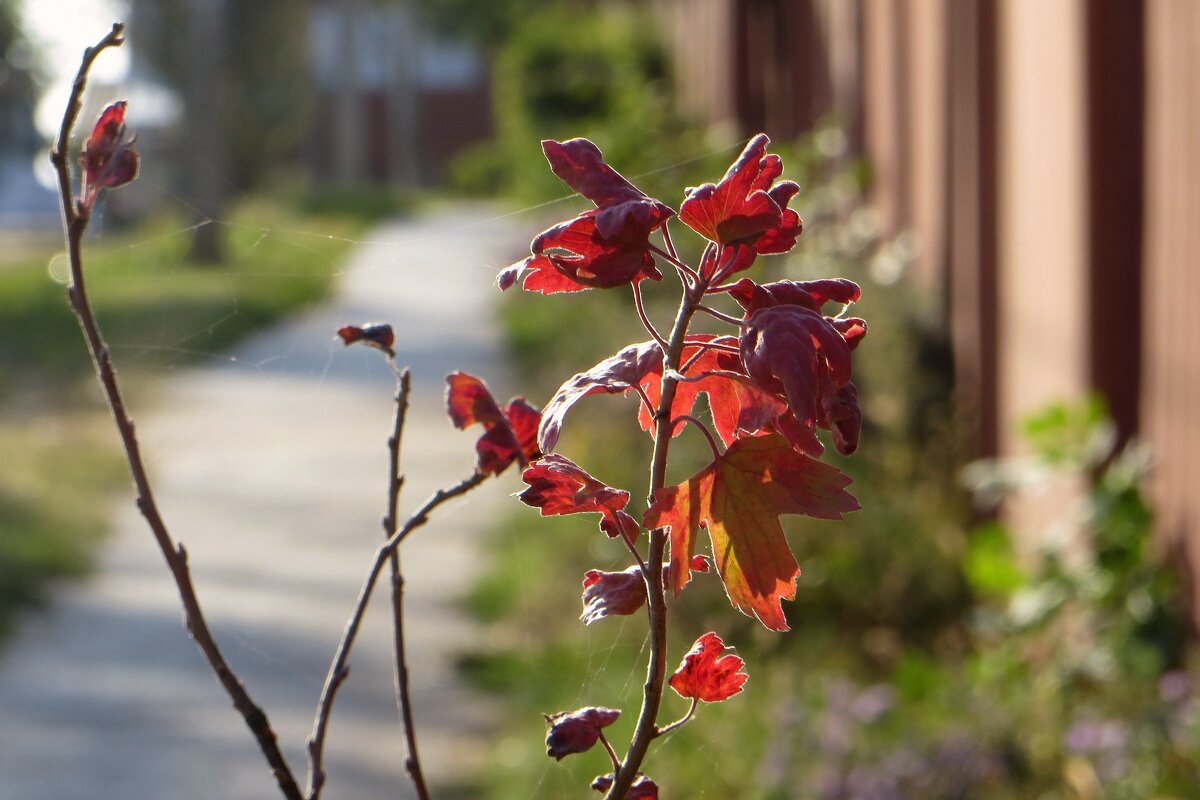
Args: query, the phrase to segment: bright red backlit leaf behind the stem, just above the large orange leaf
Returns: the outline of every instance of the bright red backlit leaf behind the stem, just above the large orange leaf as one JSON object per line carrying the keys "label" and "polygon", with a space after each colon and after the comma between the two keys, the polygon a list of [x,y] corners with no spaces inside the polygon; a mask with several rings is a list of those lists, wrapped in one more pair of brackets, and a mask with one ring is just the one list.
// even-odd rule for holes
{"label": "bright red backlit leaf behind the stem, just above the large orange leaf", "polygon": [[[670,419],[674,420],[691,414],[700,395],[707,395],[716,435],[726,445],[744,433],[761,431],[787,408],[769,392],[754,385],[742,367],[742,357],[728,351],[728,348],[737,347],[738,339],[732,336],[689,336],[680,356],[680,365],[686,366],[684,377],[688,380],[679,381],[671,403]],[[658,408],[662,397],[662,359],[650,362],[649,367],[640,378],[640,384],[650,403]],[[643,431],[654,435],[654,416],[644,404],[638,410],[637,421]],[[683,426],[678,426],[673,435],[682,432]]]}

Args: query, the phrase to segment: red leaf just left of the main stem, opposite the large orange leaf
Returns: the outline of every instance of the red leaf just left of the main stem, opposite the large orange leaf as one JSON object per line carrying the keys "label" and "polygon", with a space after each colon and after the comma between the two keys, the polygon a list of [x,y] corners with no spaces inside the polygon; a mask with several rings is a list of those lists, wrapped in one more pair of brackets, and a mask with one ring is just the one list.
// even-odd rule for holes
{"label": "red leaf just left of the main stem, opposite the large orange leaf", "polygon": [[530,464],[521,480],[529,485],[517,498],[539,509],[542,517],[599,513],[600,529],[610,536],[635,539],[637,521],[625,513],[629,492],[598,481],[566,456],[550,453]]}

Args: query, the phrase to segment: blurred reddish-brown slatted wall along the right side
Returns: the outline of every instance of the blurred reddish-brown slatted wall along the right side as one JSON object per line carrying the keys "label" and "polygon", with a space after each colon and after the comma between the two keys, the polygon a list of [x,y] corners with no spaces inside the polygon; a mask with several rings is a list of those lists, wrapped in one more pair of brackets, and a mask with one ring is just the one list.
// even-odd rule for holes
{"label": "blurred reddish-brown slatted wall along the right side", "polygon": [[776,139],[845,121],[944,295],[977,453],[1099,390],[1152,446],[1163,543],[1200,576],[1200,2],[656,5],[690,110]]}

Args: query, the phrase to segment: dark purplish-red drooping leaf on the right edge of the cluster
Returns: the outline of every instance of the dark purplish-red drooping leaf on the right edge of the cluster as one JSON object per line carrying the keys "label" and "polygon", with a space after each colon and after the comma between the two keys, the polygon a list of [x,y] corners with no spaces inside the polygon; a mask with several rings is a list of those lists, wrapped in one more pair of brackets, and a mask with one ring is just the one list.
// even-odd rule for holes
{"label": "dark purplish-red drooping leaf on the right edge of the cluster", "polygon": [[[850,383],[850,345],[827,317],[802,305],[769,306],[750,314],[742,331],[742,361],[750,378],[763,390],[787,398],[792,420],[776,423],[793,446],[811,456],[823,447],[814,435],[818,425],[829,427],[830,398]],[[865,329],[864,329],[865,332]],[[857,393],[842,392],[839,401],[852,403]],[[847,422],[853,415],[839,410]],[[859,415],[860,419],[860,415]],[[858,432],[846,429],[839,450],[848,455],[857,446]]]}

